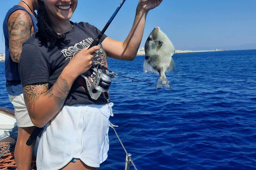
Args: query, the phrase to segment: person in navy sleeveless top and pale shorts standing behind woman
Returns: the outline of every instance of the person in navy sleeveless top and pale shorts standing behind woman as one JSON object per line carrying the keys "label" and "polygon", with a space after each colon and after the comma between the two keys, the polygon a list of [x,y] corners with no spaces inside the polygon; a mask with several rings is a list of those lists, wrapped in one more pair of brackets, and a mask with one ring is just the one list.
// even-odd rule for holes
{"label": "person in navy sleeveless top and pale shorts standing behind woman", "polygon": [[18,126],[18,139],[14,157],[19,170],[31,169],[33,146],[27,146],[26,140],[34,130],[23,98],[18,63],[22,51],[22,44],[37,31],[37,0],[22,0],[12,7],[3,22],[5,38],[5,78],[6,90],[15,109]]}

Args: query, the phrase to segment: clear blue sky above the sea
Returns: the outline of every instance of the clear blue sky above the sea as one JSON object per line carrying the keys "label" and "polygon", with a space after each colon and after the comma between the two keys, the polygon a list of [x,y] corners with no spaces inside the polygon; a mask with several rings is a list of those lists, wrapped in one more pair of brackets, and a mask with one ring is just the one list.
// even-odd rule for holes
{"label": "clear blue sky above the sea", "polygon": [[[102,30],[121,0],[78,0],[71,21],[88,22]],[[0,22],[19,0],[1,0]],[[126,0],[105,32],[118,41],[128,36],[139,0]],[[154,27],[176,50],[256,49],[256,0],[163,0],[149,11],[141,47]],[[3,32],[2,27],[0,31]],[[2,34],[0,53],[5,44]]]}

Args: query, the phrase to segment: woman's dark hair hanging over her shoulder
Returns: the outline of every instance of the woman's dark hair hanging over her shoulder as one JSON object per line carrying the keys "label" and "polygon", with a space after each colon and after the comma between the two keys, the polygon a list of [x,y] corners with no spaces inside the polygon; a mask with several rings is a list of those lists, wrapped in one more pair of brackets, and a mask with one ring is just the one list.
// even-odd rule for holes
{"label": "woman's dark hair hanging over her shoulder", "polygon": [[35,36],[39,39],[41,45],[48,48],[48,51],[51,51],[56,46],[63,48],[64,44],[69,43],[69,40],[66,40],[66,35],[58,35],[53,26],[55,26],[50,20],[47,10],[45,8],[44,2],[41,0],[38,1],[37,7],[37,28]]}

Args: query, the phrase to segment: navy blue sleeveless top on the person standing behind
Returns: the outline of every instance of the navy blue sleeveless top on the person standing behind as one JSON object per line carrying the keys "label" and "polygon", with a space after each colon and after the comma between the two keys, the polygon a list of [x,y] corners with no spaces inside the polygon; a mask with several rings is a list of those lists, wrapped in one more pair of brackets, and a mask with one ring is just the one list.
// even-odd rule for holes
{"label": "navy blue sleeveless top on the person standing behind", "polygon": [[20,74],[18,70],[19,63],[14,62],[12,60],[10,55],[10,50],[9,50],[8,19],[10,15],[17,10],[24,10],[30,15],[33,22],[34,33],[37,31],[37,27],[36,27],[37,20],[22,6],[15,5],[7,12],[3,22],[3,32],[4,32],[4,39],[5,39],[5,78],[6,78],[6,90],[8,94],[12,96],[16,96],[23,93]]}

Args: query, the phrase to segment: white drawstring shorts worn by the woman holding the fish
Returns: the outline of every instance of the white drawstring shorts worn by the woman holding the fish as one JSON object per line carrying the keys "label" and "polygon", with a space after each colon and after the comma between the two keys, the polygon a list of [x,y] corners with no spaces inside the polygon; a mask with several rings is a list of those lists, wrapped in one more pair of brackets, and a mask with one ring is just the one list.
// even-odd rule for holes
{"label": "white drawstring shorts worn by the woman holding the fish", "polygon": [[38,170],[57,170],[72,158],[100,167],[108,157],[109,117],[113,103],[64,106],[47,124],[37,151]]}

